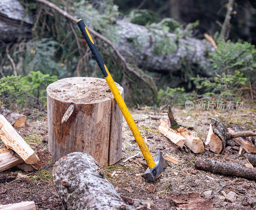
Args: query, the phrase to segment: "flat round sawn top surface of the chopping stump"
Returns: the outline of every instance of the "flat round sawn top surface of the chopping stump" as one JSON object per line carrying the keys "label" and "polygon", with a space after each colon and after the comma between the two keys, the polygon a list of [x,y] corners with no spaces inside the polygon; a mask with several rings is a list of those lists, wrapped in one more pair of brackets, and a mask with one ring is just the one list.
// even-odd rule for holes
{"label": "flat round sawn top surface of the chopping stump", "polygon": [[[123,87],[116,86],[120,92]],[[50,84],[47,94],[59,101],[72,103],[98,103],[114,98],[105,79],[94,77],[72,77],[60,79]]]}

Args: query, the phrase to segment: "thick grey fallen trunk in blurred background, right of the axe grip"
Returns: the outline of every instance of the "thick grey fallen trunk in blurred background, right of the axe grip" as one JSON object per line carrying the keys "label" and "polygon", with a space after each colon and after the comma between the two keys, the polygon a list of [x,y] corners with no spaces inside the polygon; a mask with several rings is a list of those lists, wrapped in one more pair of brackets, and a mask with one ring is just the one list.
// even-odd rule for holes
{"label": "thick grey fallen trunk in blurred background, right of the axe grip", "polygon": [[[197,74],[208,75],[205,70],[207,64],[206,52],[214,51],[210,42],[198,40],[191,37],[179,38],[175,34],[164,34],[161,30],[150,29],[146,26],[129,23],[124,20],[116,22],[119,42],[117,45],[120,53],[125,57],[135,60],[135,63],[142,69],[158,72],[174,72],[181,68],[181,61],[186,60],[192,67],[196,66]],[[163,41],[163,39],[168,40]],[[173,45],[173,52],[164,55],[161,51],[156,52],[156,48],[161,43]],[[170,46],[169,46],[170,47]]]}

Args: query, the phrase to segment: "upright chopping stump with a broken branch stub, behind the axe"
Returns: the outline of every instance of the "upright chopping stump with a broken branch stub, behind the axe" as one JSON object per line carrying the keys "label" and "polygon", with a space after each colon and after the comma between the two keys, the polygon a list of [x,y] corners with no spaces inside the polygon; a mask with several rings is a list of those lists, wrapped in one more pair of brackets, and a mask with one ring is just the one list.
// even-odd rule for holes
{"label": "upright chopping stump with a broken branch stub, behind the axe", "polygon": [[[116,85],[124,97],[124,89]],[[53,162],[72,152],[92,155],[100,167],[121,159],[122,112],[105,79],[60,79],[46,92]]]}

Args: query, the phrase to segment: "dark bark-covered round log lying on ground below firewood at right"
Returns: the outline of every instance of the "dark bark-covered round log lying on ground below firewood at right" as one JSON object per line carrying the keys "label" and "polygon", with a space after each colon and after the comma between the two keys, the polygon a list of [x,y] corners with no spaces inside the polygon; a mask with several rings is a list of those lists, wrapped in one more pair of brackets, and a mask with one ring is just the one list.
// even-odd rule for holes
{"label": "dark bark-covered round log lying on ground below firewood at right", "polygon": [[210,171],[215,174],[256,180],[256,170],[241,164],[218,162],[200,157],[196,160],[195,167],[196,169]]}

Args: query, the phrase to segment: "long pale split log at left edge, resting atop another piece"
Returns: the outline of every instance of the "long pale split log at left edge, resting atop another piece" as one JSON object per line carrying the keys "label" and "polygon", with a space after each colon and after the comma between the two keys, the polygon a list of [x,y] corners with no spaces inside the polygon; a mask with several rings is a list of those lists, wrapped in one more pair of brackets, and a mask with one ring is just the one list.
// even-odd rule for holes
{"label": "long pale split log at left edge, resting atop another piece", "polygon": [[39,161],[36,153],[3,115],[0,115],[0,138],[7,148],[14,150],[26,163],[34,164]]}

